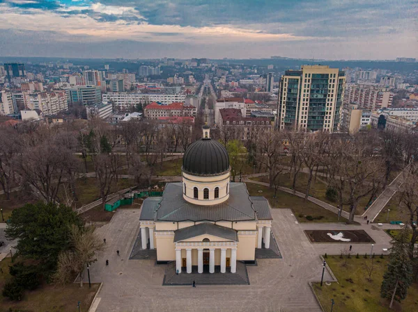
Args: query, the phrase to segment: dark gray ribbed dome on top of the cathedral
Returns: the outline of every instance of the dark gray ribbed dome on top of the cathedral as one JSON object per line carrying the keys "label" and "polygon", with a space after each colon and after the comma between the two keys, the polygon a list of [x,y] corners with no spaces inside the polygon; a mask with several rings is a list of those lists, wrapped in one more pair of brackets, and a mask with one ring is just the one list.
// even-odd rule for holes
{"label": "dark gray ribbed dome on top of the cathedral", "polygon": [[182,170],[197,176],[223,174],[229,170],[228,152],[215,140],[197,140],[187,147]]}

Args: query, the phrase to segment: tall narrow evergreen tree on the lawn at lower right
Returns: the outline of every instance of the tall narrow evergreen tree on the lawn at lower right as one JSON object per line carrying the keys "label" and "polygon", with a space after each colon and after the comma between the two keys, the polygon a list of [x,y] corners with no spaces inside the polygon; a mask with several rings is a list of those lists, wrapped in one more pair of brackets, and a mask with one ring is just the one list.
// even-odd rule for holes
{"label": "tall narrow evergreen tree on the lawn at lower right", "polygon": [[392,308],[394,299],[398,302],[405,299],[412,283],[412,263],[408,254],[409,236],[410,231],[405,227],[392,242],[389,264],[380,288],[380,296],[391,299],[389,308]]}

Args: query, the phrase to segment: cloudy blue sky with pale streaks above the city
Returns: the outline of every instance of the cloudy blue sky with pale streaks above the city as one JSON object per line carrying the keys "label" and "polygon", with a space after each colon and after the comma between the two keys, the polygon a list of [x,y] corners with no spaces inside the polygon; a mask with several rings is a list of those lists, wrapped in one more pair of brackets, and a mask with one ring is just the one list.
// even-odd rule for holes
{"label": "cloudy blue sky with pale streaks above the city", "polygon": [[417,0],[0,0],[0,56],[418,58]]}

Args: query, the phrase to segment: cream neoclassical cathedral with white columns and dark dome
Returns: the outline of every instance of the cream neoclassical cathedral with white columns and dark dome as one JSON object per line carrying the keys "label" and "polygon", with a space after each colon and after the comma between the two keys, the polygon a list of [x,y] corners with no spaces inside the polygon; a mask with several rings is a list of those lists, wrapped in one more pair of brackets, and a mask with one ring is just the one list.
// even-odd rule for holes
{"label": "cream neoclassical cathedral with white columns and dark dome", "polygon": [[270,206],[250,196],[245,183],[231,182],[230,172],[228,152],[203,126],[203,137],[183,156],[183,181],[144,200],[141,249],[155,249],[157,263],[176,261],[177,274],[192,267],[235,273],[237,261],[255,263],[256,250],[270,249],[274,240]]}

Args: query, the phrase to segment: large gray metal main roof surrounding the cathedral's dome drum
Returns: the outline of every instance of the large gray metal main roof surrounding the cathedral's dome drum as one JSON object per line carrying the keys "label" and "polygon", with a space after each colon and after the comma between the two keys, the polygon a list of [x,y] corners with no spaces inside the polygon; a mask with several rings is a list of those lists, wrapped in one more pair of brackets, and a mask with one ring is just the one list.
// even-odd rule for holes
{"label": "large gray metal main roof surrounding the cathedral's dome drum", "polygon": [[167,183],[155,220],[244,221],[256,220],[256,213],[245,183],[230,183],[229,199],[213,206],[190,204],[183,199],[182,183]]}

